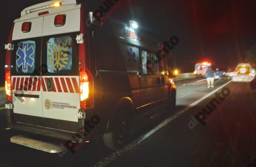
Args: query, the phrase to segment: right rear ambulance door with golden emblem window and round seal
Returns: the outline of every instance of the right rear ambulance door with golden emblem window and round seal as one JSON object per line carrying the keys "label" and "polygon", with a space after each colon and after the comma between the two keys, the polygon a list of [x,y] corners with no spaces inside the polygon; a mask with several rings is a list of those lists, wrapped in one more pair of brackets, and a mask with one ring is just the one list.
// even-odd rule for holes
{"label": "right rear ambulance door with golden emblem window and round seal", "polygon": [[[55,21],[64,25],[56,26]],[[44,16],[42,28],[42,112],[48,128],[75,132],[80,109],[80,8]]]}

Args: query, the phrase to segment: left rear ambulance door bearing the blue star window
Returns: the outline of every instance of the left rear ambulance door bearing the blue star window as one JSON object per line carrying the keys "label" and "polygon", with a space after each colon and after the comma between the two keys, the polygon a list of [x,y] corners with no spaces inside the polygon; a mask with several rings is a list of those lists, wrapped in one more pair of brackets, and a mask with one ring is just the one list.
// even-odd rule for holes
{"label": "left rear ambulance door bearing the blue star window", "polygon": [[11,51],[11,80],[15,121],[44,126],[40,81],[43,17],[17,20]]}

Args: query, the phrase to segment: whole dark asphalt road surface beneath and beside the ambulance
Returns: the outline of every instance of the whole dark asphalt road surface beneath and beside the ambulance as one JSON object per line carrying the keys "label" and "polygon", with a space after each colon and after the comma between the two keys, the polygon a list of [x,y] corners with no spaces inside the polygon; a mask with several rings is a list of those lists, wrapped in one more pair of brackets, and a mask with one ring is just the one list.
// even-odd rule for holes
{"label": "whole dark asphalt road surface beneath and beside the ambulance", "polygon": [[[248,166],[256,159],[256,91],[251,90],[248,83],[228,83],[225,80],[216,81],[215,88],[207,89],[206,81],[199,81],[201,79],[176,81],[178,91],[175,110],[154,119],[142,118],[135,125],[138,129],[129,149],[119,152],[106,149],[100,139],[82,146],[75,154],[68,152],[63,158],[10,143],[9,138],[18,133],[5,130],[4,110],[0,110],[0,166]],[[198,123],[191,130],[188,127],[191,116],[200,112],[215,97],[215,90],[226,83],[225,87],[231,90],[231,94],[222,102],[225,107],[205,126]],[[213,94],[209,95],[211,92]],[[206,95],[207,98],[201,99]],[[193,107],[183,110],[191,104]],[[163,121],[170,122],[155,131],[155,126],[163,125]],[[150,131],[152,133],[148,134]],[[44,138],[36,135],[32,137]]]}

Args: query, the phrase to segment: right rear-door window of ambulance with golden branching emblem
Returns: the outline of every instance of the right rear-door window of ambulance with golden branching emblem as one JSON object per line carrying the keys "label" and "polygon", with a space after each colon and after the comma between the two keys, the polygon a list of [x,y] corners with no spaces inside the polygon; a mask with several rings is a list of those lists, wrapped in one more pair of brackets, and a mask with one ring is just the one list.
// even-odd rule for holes
{"label": "right rear-door window of ambulance with golden branching emblem", "polygon": [[53,37],[47,41],[47,67],[51,73],[72,69],[72,38]]}

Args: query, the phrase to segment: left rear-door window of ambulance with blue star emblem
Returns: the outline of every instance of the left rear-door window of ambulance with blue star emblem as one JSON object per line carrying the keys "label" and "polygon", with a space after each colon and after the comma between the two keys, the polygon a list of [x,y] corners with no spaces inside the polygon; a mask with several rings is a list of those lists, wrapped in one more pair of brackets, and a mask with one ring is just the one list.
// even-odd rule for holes
{"label": "left rear-door window of ambulance with blue star emblem", "polygon": [[16,71],[33,73],[35,69],[35,41],[21,41],[16,50]]}

